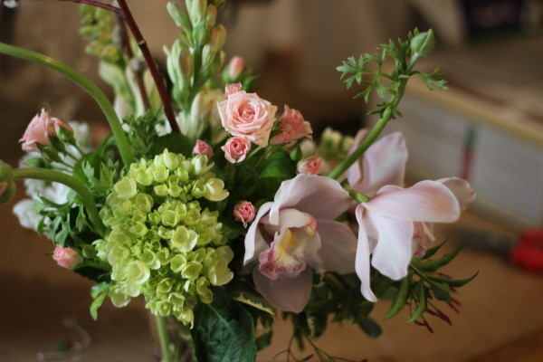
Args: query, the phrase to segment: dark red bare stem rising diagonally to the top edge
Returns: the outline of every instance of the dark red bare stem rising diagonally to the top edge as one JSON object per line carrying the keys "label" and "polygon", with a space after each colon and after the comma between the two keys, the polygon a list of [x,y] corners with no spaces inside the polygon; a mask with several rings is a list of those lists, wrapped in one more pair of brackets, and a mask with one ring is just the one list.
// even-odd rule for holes
{"label": "dark red bare stem rising diagonally to the top edge", "polygon": [[141,32],[139,31],[138,24],[136,24],[134,17],[130,13],[129,6],[127,5],[126,1],[118,0],[117,2],[119,3],[120,15],[122,16],[126,24],[129,26],[130,32],[134,35],[134,38],[136,38],[136,43],[138,43],[139,49],[141,50],[143,54],[145,62],[147,62],[148,64],[148,68],[149,68],[149,71],[151,72],[151,76],[153,77],[153,80],[155,81],[155,85],[157,86],[160,100],[162,100],[162,104],[164,105],[164,113],[166,114],[167,121],[169,122],[170,127],[172,128],[174,132],[181,132],[181,130],[179,129],[179,126],[177,125],[176,115],[174,113],[174,110],[172,109],[172,105],[167,96],[167,90],[166,90],[164,79],[162,78],[162,75],[158,71],[157,64],[153,60],[153,56],[151,55],[151,52],[149,51],[148,44],[143,38],[143,35],[141,34]]}

